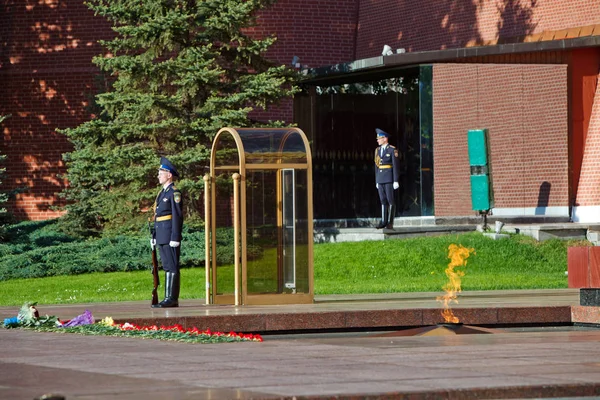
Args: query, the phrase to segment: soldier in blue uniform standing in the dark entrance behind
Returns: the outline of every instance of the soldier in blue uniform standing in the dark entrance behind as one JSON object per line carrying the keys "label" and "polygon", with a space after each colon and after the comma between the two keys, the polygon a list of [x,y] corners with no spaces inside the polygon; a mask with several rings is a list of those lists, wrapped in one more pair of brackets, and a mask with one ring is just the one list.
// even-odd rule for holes
{"label": "soldier in blue uniform standing in the dark entrance behind", "polygon": [[394,229],[394,190],[398,189],[398,150],[388,143],[389,135],[381,129],[375,129],[377,144],[375,149],[375,187],[381,201],[381,222],[377,229]]}

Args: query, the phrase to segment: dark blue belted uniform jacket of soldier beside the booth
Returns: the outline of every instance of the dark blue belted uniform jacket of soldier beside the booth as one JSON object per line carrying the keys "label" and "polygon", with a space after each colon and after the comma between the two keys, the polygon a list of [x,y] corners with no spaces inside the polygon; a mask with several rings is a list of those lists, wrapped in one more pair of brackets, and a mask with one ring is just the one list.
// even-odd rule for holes
{"label": "dark blue belted uniform jacket of soldier beside the booth", "polygon": [[181,192],[173,184],[160,191],[154,203],[154,239],[156,244],[181,242],[183,201]]}

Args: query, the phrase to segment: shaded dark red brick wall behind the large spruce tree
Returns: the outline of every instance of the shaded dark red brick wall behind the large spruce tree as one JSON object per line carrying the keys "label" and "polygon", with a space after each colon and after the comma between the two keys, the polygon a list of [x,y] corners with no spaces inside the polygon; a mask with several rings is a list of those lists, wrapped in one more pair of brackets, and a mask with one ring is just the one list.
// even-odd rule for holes
{"label": "shaded dark red brick wall behind the large spruce tree", "polygon": [[[278,37],[268,57],[281,64],[294,55],[308,67],[351,61],[357,7],[356,0],[280,0],[253,31]],[[112,31],[80,0],[8,0],[0,16],[0,115],[12,114],[2,126],[2,184],[27,189],[8,208],[20,219],[56,217],[51,208],[62,205],[56,193],[67,184],[57,174],[65,172],[62,154],[71,146],[55,129],[89,118],[85,106],[98,73],[91,59],[102,51],[96,41]],[[292,102],[252,117],[291,121]]]}

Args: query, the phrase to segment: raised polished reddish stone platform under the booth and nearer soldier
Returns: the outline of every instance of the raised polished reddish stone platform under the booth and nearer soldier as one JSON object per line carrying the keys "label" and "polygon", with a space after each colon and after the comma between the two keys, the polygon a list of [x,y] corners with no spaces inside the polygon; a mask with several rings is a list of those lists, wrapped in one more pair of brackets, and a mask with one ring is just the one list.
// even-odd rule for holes
{"label": "raised polished reddish stone platform under the booth and nearer soldier", "polygon": [[[154,309],[150,302],[63,304],[38,306],[40,314],[71,319],[86,309],[100,320],[138,325],[181,324],[186,328],[245,333],[340,331],[365,328],[400,329],[444,322],[441,293],[316,296],[314,304],[271,306],[206,305],[180,301],[179,308]],[[468,325],[571,324],[571,307],[579,289],[463,292],[454,314]],[[0,318],[14,316],[15,307],[0,307]]]}

